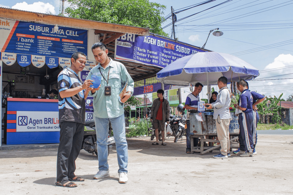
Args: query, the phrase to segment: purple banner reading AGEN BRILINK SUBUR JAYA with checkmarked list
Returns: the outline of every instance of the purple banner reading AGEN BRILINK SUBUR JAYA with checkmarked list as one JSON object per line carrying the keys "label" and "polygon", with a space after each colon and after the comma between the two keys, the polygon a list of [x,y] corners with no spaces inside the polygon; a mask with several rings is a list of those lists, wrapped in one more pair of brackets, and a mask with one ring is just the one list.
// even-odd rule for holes
{"label": "purple banner reading AGEN BRILINK SUBUR JAYA with checkmarked list", "polygon": [[204,51],[155,36],[124,34],[115,40],[115,59],[161,68],[197,52]]}

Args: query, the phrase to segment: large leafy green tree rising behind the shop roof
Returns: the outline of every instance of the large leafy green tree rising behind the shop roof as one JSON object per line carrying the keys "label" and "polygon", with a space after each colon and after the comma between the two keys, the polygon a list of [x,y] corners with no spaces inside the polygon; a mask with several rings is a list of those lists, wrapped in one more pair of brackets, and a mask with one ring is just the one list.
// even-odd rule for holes
{"label": "large leafy green tree rising behind the shop roof", "polygon": [[161,29],[166,6],[149,0],[68,0],[65,13],[72,18],[96,20],[144,28],[168,36]]}

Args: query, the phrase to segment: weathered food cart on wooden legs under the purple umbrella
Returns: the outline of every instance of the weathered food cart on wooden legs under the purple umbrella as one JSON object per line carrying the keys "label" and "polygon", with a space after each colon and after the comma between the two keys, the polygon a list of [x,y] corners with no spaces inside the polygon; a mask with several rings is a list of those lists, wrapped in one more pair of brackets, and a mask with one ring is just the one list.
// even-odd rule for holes
{"label": "weathered food cart on wooden legs under the purple umbrella", "polygon": [[[191,144],[191,151],[205,154],[213,150],[219,150],[221,145],[214,146],[214,143],[220,143],[219,140],[207,139],[209,136],[217,137],[216,120],[213,118],[213,112],[190,113],[190,143],[193,143],[194,138],[199,138],[200,146]],[[197,116],[196,116],[197,115]],[[198,121],[201,118],[203,121]],[[239,148],[239,143],[235,142],[238,139],[239,124],[238,116],[231,112],[231,120],[229,125],[230,134],[230,149]],[[204,146],[204,142],[212,143],[212,146]]]}

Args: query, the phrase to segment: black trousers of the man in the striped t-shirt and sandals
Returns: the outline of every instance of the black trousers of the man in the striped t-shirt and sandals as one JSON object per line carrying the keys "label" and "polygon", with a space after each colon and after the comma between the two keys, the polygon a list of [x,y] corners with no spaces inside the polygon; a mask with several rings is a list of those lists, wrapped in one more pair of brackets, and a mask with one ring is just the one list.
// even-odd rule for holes
{"label": "black trousers of the man in the striped t-shirt and sandals", "polygon": [[59,123],[60,144],[57,153],[57,182],[75,177],[75,160],[84,137],[84,124],[64,121]]}

